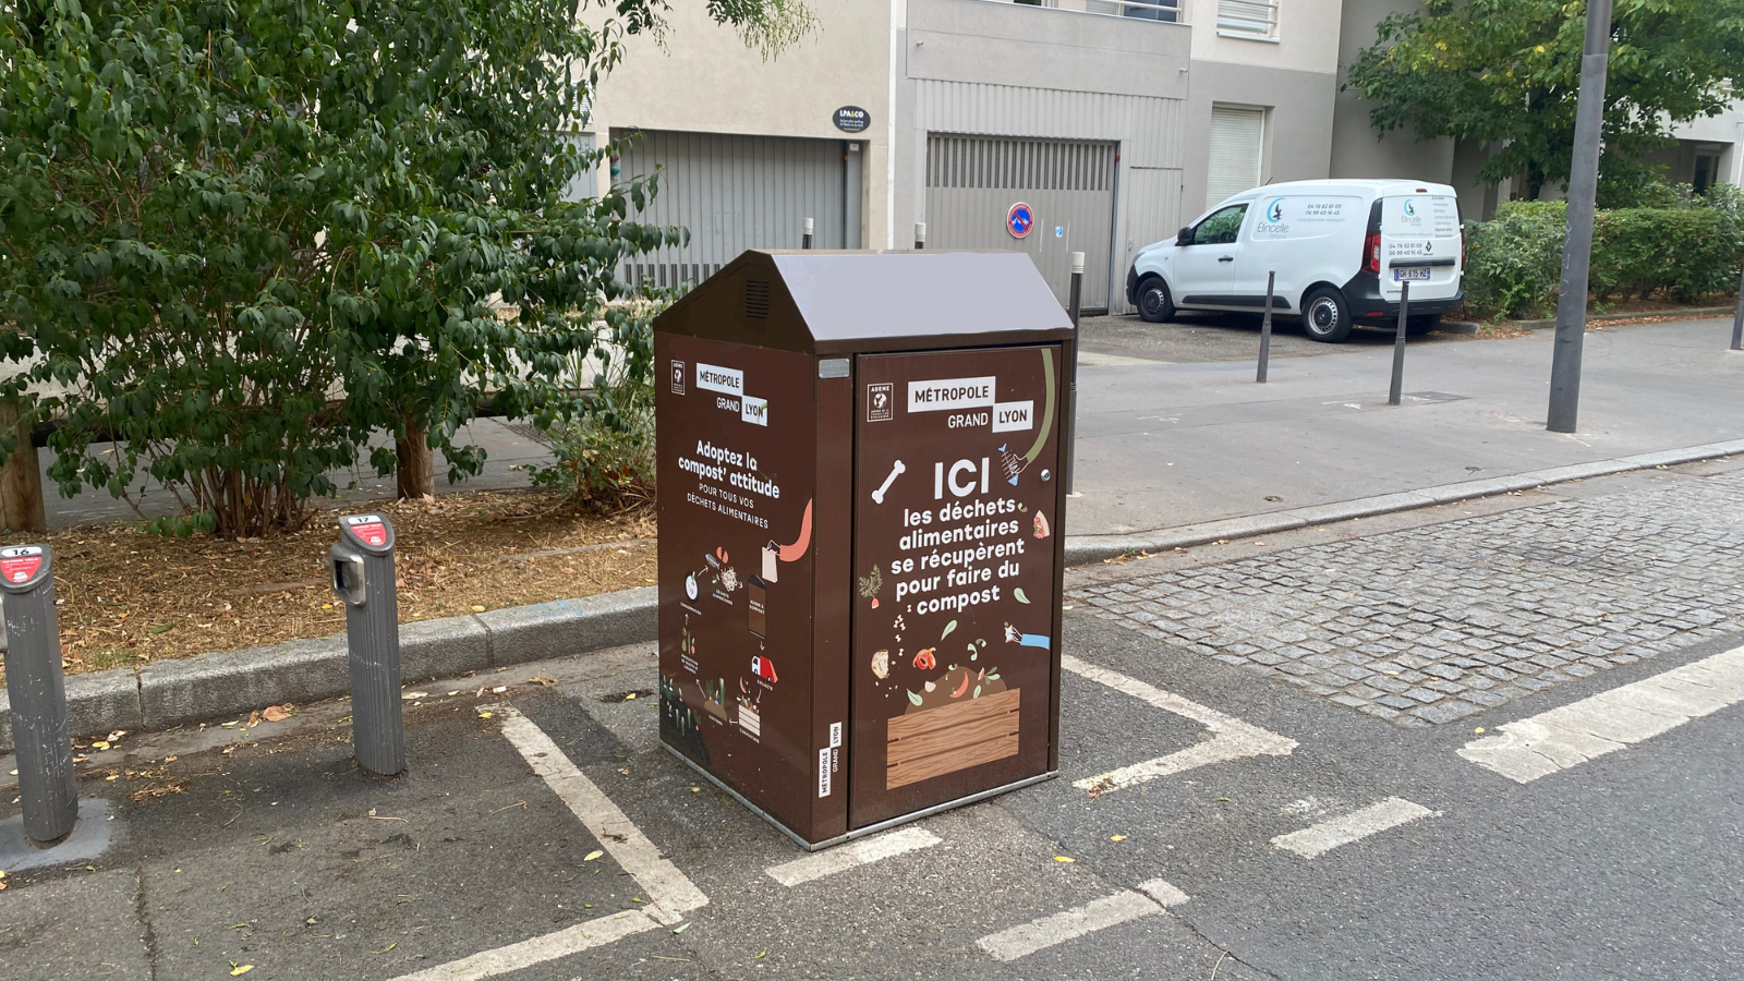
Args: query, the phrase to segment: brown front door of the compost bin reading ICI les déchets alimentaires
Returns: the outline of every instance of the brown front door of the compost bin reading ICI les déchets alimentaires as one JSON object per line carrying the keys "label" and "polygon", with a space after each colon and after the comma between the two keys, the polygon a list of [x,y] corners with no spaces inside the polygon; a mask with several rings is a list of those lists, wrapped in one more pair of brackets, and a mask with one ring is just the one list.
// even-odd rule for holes
{"label": "brown front door of the compost bin reading ICI les d\u00e9chets alimentaires", "polygon": [[1048,770],[1060,346],[862,354],[849,827]]}

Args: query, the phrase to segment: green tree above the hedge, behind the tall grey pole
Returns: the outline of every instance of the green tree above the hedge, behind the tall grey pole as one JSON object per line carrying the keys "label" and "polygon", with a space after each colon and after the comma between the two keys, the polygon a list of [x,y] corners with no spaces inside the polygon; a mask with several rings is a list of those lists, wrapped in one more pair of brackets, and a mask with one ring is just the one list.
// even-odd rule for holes
{"label": "green tree above the hedge, behind the tall grey pole", "polygon": [[[1524,171],[1528,196],[1568,180],[1585,40],[1584,0],[1425,0],[1390,14],[1348,87],[1381,133],[1495,150],[1479,180]],[[1617,0],[1604,87],[1604,180],[1650,173],[1674,122],[1718,115],[1744,65],[1744,0]]]}

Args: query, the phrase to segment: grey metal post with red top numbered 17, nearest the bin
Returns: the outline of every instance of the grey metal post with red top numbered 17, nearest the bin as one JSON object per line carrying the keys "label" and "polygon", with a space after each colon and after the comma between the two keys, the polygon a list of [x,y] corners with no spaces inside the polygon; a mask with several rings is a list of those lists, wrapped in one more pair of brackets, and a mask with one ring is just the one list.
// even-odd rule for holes
{"label": "grey metal post with red top numbered 17, nearest the bin", "polygon": [[364,770],[392,777],[406,768],[406,726],[399,714],[394,525],[387,515],[342,517],[328,566],[333,593],[345,600],[352,751]]}

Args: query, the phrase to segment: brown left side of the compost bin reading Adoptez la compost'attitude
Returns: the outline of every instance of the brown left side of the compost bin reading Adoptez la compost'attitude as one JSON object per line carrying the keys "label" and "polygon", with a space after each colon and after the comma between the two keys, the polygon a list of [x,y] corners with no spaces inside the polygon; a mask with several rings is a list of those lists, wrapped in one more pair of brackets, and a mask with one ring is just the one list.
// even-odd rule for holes
{"label": "brown left side of the compost bin reading Adoptez la compost'attitude", "polygon": [[807,354],[657,333],[661,738],[811,836]]}

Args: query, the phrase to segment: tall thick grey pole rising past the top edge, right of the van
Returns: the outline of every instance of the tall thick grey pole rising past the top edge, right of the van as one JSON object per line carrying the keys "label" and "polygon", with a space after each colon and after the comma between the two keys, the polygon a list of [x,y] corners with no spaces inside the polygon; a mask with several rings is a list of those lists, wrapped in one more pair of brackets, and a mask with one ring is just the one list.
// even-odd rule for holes
{"label": "tall thick grey pole rising past the top edge, right of the van", "polygon": [[1568,175],[1568,236],[1556,300],[1556,353],[1550,361],[1552,433],[1573,433],[1580,415],[1580,347],[1587,333],[1587,265],[1592,260],[1592,208],[1599,190],[1604,138],[1604,72],[1611,45],[1611,0],[1587,0],[1587,47],[1580,58],[1575,159]]}

